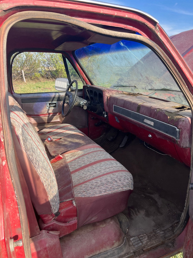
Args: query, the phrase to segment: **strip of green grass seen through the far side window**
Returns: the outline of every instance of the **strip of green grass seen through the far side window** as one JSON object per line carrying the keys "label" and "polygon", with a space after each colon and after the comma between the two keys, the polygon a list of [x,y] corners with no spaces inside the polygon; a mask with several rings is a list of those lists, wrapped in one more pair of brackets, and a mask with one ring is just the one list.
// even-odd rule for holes
{"label": "strip of green grass seen through the far side window", "polygon": [[55,90],[55,80],[45,81],[17,81],[13,83],[14,92],[16,93],[36,93],[36,92],[52,92]]}

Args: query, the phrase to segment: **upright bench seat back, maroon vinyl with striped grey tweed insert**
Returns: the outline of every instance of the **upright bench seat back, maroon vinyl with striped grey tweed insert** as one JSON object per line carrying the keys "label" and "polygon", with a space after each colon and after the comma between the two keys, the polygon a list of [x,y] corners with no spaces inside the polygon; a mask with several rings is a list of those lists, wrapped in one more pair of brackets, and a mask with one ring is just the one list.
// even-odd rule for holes
{"label": "upright bench seat back, maroon vinyl with striped grey tweed insert", "polygon": [[33,206],[38,214],[55,214],[59,210],[58,185],[44,145],[10,95],[9,106],[13,140]]}

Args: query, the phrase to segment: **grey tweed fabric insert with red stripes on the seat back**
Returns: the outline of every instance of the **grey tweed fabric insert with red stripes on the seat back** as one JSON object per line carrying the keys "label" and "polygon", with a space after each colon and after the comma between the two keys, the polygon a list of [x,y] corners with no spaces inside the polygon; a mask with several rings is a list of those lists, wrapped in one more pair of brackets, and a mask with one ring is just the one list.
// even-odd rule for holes
{"label": "grey tweed fabric insert with red stripes on the seat back", "polygon": [[24,150],[39,175],[46,189],[52,212],[56,213],[59,209],[58,186],[43,144],[27,119],[27,116],[19,106],[12,106],[10,117],[11,125],[14,127],[21,148]]}

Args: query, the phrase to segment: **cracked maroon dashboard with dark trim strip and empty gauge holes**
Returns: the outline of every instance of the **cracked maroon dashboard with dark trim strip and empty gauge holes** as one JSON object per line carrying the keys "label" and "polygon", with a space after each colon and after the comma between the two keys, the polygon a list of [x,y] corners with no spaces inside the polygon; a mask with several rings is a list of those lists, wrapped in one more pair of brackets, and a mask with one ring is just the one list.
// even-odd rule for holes
{"label": "cracked maroon dashboard with dark trim strip and empty gauge holes", "polygon": [[188,106],[141,94],[84,86],[88,112],[130,132],[158,150],[190,166],[192,114]]}

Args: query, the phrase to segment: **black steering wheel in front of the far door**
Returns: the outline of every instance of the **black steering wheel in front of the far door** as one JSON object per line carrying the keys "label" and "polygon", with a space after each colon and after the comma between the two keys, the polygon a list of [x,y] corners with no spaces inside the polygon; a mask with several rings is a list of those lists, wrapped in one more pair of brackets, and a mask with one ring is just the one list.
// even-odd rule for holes
{"label": "black steering wheel in front of the far door", "polygon": [[[73,83],[76,83],[76,89],[75,89],[75,93],[72,94],[71,91],[69,91],[70,87],[72,86]],[[63,103],[62,103],[62,116],[68,116],[71,109],[73,108],[74,106],[74,103],[75,103],[75,100],[76,100],[76,96],[77,96],[77,92],[78,92],[78,82],[77,80],[73,80],[71,81],[71,83],[69,84],[67,90],[66,90],[66,93],[65,93],[65,96],[64,96],[64,100],[63,100]],[[69,102],[68,105],[69,105],[69,108],[68,108],[68,111],[66,113],[64,113],[64,104],[65,104],[65,101],[66,101],[66,96],[68,96],[69,98]]]}

